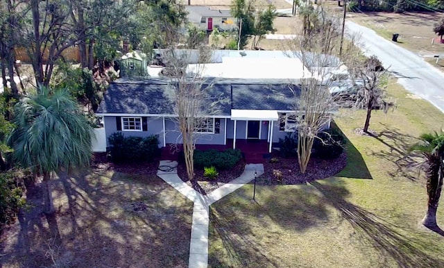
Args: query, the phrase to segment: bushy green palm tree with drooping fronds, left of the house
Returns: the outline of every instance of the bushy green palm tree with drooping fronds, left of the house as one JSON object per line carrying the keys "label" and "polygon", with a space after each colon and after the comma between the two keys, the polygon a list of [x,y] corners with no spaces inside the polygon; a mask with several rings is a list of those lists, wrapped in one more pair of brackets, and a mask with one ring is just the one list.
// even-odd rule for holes
{"label": "bushy green palm tree with drooping fronds, left of the house", "polygon": [[67,90],[41,88],[15,105],[12,159],[43,174],[44,212],[55,212],[49,180],[53,171],[89,165],[94,130]]}

